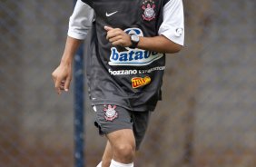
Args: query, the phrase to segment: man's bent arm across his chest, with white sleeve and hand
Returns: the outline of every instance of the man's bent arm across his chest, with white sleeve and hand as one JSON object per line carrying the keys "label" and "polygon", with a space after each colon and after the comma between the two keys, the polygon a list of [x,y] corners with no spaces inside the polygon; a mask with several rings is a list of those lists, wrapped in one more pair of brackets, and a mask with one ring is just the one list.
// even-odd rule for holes
{"label": "man's bent arm across his chest, with white sleeve and hand", "polygon": [[[106,38],[113,45],[129,47],[131,37],[119,28],[105,26]],[[163,6],[163,21],[158,36],[140,37],[137,48],[158,53],[173,54],[182,49],[184,42],[184,18],[182,0],[170,0]]]}

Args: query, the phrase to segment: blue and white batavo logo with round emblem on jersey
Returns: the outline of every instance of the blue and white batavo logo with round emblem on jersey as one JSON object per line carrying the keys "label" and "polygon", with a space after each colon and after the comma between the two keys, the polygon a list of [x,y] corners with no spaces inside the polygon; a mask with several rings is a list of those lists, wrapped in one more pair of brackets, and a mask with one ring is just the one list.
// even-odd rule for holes
{"label": "blue and white batavo logo with round emblem on jersey", "polygon": [[[143,36],[142,30],[139,28],[128,28],[124,32],[130,35],[137,34],[138,36]],[[152,64],[153,61],[163,56],[163,54],[137,48],[125,47],[123,49],[123,51],[119,51],[116,47],[111,48],[110,65],[142,66]]]}

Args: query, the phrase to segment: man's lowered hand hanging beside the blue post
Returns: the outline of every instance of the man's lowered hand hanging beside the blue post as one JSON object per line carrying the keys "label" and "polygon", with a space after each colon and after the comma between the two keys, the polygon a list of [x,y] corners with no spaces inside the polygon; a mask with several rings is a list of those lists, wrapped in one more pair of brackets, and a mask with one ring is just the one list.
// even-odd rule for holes
{"label": "man's lowered hand hanging beside the blue post", "polygon": [[72,79],[72,65],[61,63],[52,74],[54,86],[58,94],[62,91],[68,92]]}

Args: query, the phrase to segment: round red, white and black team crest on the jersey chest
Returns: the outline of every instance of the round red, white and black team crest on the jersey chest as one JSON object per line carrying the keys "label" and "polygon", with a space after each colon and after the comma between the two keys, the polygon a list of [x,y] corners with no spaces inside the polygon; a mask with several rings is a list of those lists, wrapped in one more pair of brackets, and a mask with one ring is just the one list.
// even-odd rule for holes
{"label": "round red, white and black team crest on the jersey chest", "polygon": [[144,0],[143,5],[143,20],[152,21],[155,18],[155,4],[153,0]]}

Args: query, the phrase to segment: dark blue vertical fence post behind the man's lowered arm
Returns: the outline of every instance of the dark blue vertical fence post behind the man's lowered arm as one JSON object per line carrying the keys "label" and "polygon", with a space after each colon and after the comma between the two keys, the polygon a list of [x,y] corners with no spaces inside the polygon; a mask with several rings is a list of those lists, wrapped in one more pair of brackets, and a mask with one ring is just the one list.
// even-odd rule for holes
{"label": "dark blue vertical fence post behind the man's lowered arm", "polygon": [[[76,0],[74,0],[74,5]],[[74,167],[84,167],[84,44],[74,56]]]}

